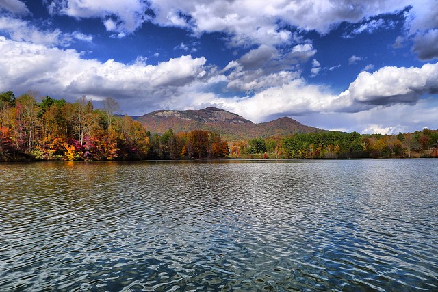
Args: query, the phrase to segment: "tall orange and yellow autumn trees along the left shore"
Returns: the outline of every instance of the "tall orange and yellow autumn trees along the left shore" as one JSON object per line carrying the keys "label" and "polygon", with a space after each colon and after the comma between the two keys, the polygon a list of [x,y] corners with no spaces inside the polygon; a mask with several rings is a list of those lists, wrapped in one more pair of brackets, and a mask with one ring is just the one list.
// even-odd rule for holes
{"label": "tall orange and yellow autumn trees along the left shore", "polygon": [[74,103],[26,92],[0,93],[0,161],[94,161],[141,159],[217,159],[229,155],[217,133],[151,135],[141,122],[116,116],[112,98],[94,109],[82,96]]}

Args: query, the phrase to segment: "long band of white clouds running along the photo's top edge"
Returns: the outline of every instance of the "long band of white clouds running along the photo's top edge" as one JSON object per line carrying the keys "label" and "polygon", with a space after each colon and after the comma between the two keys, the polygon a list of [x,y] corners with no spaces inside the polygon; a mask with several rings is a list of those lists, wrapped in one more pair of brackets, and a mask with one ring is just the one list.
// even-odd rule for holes
{"label": "long band of white clouds running along the photo's top edge", "polygon": [[[261,0],[47,0],[52,14],[101,18],[106,29],[118,32],[119,36],[132,33],[145,21],[152,21],[161,26],[188,29],[195,35],[225,32],[229,43],[235,46],[289,44],[296,40],[296,34],[287,26],[326,34],[343,21],[357,23],[364,18],[402,10],[409,4],[407,0],[341,0],[336,3],[331,0],[270,3]],[[369,31],[378,25],[378,20],[369,21],[358,31]]]}

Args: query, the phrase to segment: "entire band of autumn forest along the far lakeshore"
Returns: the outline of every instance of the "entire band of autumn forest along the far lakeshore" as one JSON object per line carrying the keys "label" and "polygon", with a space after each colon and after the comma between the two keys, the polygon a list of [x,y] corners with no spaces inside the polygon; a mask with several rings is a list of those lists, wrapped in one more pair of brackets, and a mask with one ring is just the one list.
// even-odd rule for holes
{"label": "entire band of autumn forest along the far lakeshore", "polygon": [[37,92],[18,98],[1,92],[0,161],[438,157],[438,130],[426,128],[398,135],[322,131],[227,142],[203,130],[152,134],[117,111],[112,98],[94,109],[86,96],[68,103],[39,98]]}

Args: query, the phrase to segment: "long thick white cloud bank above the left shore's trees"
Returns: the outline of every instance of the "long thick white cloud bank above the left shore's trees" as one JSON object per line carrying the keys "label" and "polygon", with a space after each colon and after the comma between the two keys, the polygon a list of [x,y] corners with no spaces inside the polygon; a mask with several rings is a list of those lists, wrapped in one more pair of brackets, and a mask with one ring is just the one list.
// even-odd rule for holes
{"label": "long thick white cloud bank above the left shore's trees", "polygon": [[[75,50],[47,48],[7,40],[0,36],[0,88],[29,89],[55,97],[142,98],[144,104],[160,103],[171,93],[206,75],[205,58],[185,55],[155,66],[131,65],[109,60],[81,59]],[[178,68],[175,70],[175,68]]]}

